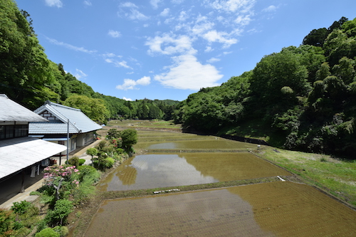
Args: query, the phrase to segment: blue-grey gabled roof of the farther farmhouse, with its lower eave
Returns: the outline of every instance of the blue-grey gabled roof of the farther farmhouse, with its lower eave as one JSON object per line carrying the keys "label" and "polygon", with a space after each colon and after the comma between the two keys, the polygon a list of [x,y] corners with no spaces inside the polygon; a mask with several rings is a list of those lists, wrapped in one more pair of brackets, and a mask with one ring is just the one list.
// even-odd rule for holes
{"label": "blue-grey gabled roof of the farther farmhouse, with its lower eave", "polygon": [[93,120],[90,120],[81,110],[65,105],[59,105],[54,102],[46,101],[44,105],[38,107],[36,112],[38,115],[42,112],[51,112],[56,116],[57,122],[31,122],[28,127],[29,134],[66,134],[69,133],[85,133],[100,130],[102,127]]}

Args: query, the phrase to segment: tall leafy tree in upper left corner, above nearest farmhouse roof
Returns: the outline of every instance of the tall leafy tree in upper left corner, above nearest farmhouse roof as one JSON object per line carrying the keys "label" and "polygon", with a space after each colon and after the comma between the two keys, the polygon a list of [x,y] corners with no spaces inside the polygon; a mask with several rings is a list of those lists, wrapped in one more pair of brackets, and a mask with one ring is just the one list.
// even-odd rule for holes
{"label": "tall leafy tree in upper left corner, above nearest farmhouse roof", "polygon": [[48,68],[50,60],[38,43],[28,17],[14,1],[1,1],[0,93],[19,102],[26,99],[23,104],[33,109],[43,100],[57,96],[51,89],[54,77]]}

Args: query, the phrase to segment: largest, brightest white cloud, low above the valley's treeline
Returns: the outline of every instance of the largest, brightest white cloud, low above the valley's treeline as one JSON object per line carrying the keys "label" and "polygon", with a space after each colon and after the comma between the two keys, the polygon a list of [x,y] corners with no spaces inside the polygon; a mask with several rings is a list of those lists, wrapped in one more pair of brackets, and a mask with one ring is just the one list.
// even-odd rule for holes
{"label": "largest, brightest white cloud, low above the valley's treeline", "polygon": [[213,65],[203,65],[192,54],[173,57],[174,65],[167,73],[155,75],[155,80],[169,88],[199,90],[219,85],[216,81],[223,75]]}

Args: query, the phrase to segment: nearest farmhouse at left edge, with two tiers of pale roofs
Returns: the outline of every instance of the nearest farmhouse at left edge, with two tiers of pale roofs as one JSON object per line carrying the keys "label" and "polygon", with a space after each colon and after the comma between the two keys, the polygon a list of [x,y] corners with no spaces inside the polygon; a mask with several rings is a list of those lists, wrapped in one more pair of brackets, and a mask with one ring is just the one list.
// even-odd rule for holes
{"label": "nearest farmhouse at left edge, with two tiers of pale roofs", "polygon": [[48,123],[48,120],[0,94],[0,184],[22,173],[21,190],[26,171],[34,177],[41,167],[48,165],[48,157],[66,150],[61,144],[28,137],[29,122]]}

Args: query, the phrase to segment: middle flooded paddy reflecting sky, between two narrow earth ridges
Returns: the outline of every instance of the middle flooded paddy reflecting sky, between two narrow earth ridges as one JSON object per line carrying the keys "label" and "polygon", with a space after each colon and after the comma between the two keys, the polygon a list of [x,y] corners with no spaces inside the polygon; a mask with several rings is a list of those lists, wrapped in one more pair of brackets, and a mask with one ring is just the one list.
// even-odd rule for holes
{"label": "middle flooded paddy reflecting sky, between two narrow earth ridges", "polygon": [[290,175],[248,152],[144,154],[125,160],[100,181],[101,191],[152,189]]}

